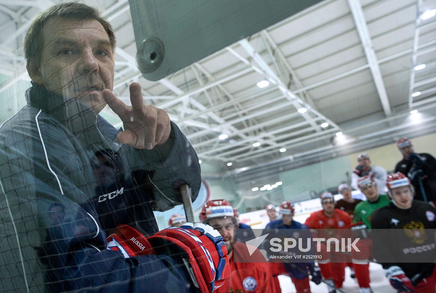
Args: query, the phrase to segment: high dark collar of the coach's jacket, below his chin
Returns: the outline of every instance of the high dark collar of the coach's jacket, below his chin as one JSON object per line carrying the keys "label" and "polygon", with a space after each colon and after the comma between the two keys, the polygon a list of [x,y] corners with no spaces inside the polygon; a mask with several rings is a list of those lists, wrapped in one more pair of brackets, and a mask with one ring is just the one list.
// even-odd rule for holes
{"label": "high dark collar of the coach's jacket, below his chin", "polygon": [[93,109],[75,99],[49,92],[32,82],[32,87],[26,91],[26,100],[30,106],[57,119],[85,146],[102,143],[106,146],[102,142],[103,136],[114,152],[121,147],[115,138],[118,131]]}

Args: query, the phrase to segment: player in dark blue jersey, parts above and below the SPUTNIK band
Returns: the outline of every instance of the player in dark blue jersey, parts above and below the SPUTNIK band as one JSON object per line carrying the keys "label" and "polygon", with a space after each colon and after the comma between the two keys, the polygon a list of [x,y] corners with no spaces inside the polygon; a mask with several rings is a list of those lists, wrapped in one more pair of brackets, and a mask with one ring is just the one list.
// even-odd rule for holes
{"label": "player in dark blue jersey, parts above and below the SPUTNIK band", "polygon": [[[266,225],[266,229],[308,229],[306,225],[293,220],[295,207],[289,201],[283,201],[280,204],[280,212],[282,218],[271,221]],[[307,230],[308,231],[308,230]],[[282,265],[277,263],[277,265]],[[289,273],[292,282],[295,285],[297,293],[310,293],[309,277],[312,276],[312,281],[315,284],[321,283],[321,273],[319,267],[315,266],[314,262],[307,263],[283,263],[286,271]],[[306,273],[305,273],[306,272]]]}

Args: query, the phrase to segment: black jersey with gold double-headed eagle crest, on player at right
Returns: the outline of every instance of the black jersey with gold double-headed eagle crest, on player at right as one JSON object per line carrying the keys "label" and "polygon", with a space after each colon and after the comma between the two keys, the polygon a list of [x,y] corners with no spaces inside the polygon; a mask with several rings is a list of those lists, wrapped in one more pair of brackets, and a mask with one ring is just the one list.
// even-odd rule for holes
{"label": "black jersey with gold double-headed eagle crest, on player at right", "polygon": [[[381,262],[384,269],[390,266],[399,266],[410,279],[417,273],[421,273],[424,278],[431,275],[434,262],[436,261],[434,230],[422,232],[419,229],[436,229],[436,210],[433,206],[423,201],[414,200],[412,201],[411,208],[403,210],[391,203],[374,211],[371,218],[371,226],[375,259],[383,259],[389,254],[392,256],[390,257],[391,259],[407,259],[405,262]],[[402,238],[403,241],[398,242],[391,239],[386,240],[387,237],[384,237],[384,240],[381,241],[382,237],[377,237],[378,232],[375,229],[407,230],[405,230],[404,237]],[[380,230],[379,232],[386,235],[386,230]],[[417,234],[406,237],[407,232],[416,232]],[[425,235],[426,233],[432,235]],[[420,235],[425,235],[426,239],[424,241],[416,241],[416,237]],[[413,252],[415,255],[409,253],[411,250],[415,251]],[[423,256],[424,259],[428,259],[429,262],[414,262],[413,257],[416,257],[416,253],[419,253],[420,257]]]}

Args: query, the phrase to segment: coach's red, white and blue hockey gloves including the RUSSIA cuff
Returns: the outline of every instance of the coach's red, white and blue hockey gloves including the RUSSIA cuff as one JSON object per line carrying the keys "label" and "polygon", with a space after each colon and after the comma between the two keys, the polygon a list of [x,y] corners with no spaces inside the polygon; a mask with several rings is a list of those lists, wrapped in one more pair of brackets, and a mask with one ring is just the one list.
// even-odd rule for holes
{"label": "coach's red, white and blue hockey gloves including the RUSSIA cuff", "polygon": [[180,256],[201,293],[212,293],[230,276],[222,236],[201,223],[166,228],[147,238],[134,228],[118,225],[116,233],[108,237],[107,249],[121,251],[125,258],[147,254]]}

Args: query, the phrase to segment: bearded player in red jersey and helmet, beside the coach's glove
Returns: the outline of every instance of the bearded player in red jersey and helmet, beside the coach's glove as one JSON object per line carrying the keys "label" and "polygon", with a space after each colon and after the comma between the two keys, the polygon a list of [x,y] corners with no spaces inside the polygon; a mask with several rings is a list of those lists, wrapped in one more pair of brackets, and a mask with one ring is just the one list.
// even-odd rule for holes
{"label": "bearded player in red jersey and helmet, beside the coach's glove", "polygon": [[[233,261],[235,245],[239,245],[238,253],[242,249],[246,249],[246,246],[245,243],[235,242],[236,218],[232,205],[228,201],[225,199],[207,201],[201,210],[200,219],[204,224],[210,225],[220,232],[227,246],[230,260],[230,278],[214,293],[276,292],[272,283],[271,268],[268,264]],[[258,250],[256,252],[263,258]]]}

